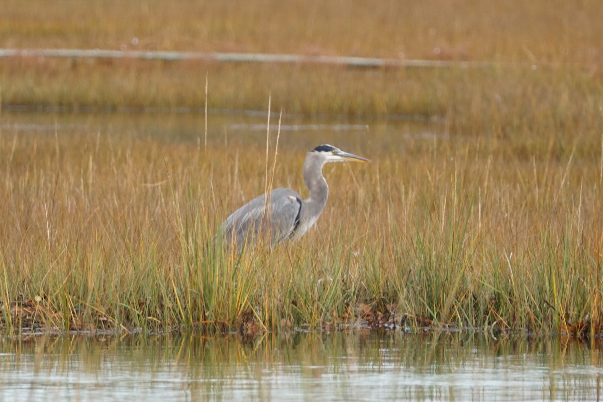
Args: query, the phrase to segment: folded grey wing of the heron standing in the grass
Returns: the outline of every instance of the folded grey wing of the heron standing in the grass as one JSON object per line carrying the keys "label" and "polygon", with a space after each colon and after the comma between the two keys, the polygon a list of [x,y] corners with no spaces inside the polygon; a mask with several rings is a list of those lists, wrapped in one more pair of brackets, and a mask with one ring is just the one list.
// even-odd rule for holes
{"label": "folded grey wing of the heron standing in the grass", "polygon": [[276,189],[252,199],[236,210],[222,224],[227,243],[245,243],[270,239],[271,245],[290,237],[299,221],[301,198],[291,189]]}

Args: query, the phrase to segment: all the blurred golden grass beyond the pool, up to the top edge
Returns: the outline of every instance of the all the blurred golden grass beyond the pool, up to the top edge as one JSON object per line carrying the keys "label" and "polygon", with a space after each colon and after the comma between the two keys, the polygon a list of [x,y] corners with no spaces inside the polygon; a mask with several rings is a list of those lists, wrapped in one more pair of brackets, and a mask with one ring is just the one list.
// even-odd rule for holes
{"label": "all the blurred golden grass beyond the pool, up to the top edge", "polygon": [[[210,107],[304,115],[446,118],[452,132],[591,124],[602,96],[603,7],[504,3],[260,0],[20,2],[0,17],[1,48],[355,55],[491,62],[485,69],[349,69],[196,61],[0,61],[5,105]],[[533,71],[532,68],[536,70]],[[535,118],[534,118],[535,116]]]}

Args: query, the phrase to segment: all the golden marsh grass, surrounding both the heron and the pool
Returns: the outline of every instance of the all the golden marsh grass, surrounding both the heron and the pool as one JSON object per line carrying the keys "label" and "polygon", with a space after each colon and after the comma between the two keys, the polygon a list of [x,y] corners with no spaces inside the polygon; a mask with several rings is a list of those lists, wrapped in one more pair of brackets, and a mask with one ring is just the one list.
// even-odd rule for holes
{"label": "all the golden marsh grass, surrounding both the heron and the pool", "polygon": [[[305,189],[305,155],[283,148],[275,163],[271,152],[258,159],[262,145],[4,128],[2,327],[253,333],[361,323],[600,334],[603,10],[554,3],[266,0],[198,10],[66,1],[49,10],[9,0],[0,41],[10,48],[131,49],[136,37],[138,49],[492,66],[1,60],[3,105],[265,110],[270,93],[272,110],[285,113],[435,118],[445,138],[363,142],[356,152],[372,165],[325,168],[332,195],[317,230],[239,255],[215,247],[219,223],[269,179]],[[265,10],[270,23],[258,24]],[[285,18],[293,14],[309,18]]]}

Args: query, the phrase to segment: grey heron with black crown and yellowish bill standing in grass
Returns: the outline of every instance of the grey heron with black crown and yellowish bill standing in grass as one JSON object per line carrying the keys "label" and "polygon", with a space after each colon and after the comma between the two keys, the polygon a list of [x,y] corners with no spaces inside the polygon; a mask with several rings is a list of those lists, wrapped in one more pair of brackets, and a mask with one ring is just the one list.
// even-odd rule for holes
{"label": "grey heron with black crown and yellowish bill standing in grass", "polygon": [[[319,145],[308,152],[303,179],[310,190],[308,199],[291,189],[276,189],[260,195],[236,210],[223,222],[221,233],[229,244],[270,240],[270,247],[285,239],[298,239],[314,225],[323,212],[329,186],[323,177],[327,162],[370,162],[331,145]],[[267,197],[268,195],[268,197]]]}

